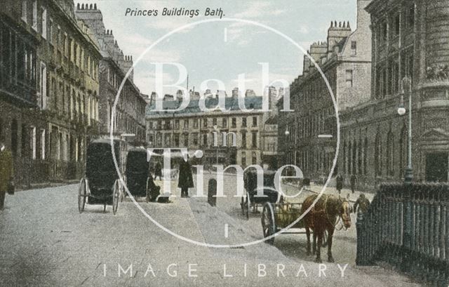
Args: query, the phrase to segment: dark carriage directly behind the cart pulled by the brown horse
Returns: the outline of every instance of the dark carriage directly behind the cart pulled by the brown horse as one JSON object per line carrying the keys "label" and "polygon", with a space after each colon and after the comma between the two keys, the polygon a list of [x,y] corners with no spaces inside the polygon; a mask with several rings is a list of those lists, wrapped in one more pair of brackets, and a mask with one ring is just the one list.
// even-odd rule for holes
{"label": "dark carriage directly behind the cart pulled by the brown horse", "polygon": [[[276,191],[274,187],[274,175],[276,171],[266,170],[263,172],[263,187],[257,187],[257,171],[246,171],[243,175],[244,187],[246,195],[241,198],[241,212],[249,219],[250,209],[253,208],[253,213],[258,211],[258,207],[264,203],[278,203],[283,201],[283,196]],[[257,194],[258,192],[258,194]]]}

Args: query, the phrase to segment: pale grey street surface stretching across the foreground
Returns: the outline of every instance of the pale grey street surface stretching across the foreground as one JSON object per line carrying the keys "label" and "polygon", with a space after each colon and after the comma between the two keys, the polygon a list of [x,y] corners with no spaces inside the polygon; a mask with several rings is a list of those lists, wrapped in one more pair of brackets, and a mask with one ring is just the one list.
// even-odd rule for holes
{"label": "pale grey street surface stretching across the foreground", "polygon": [[[243,218],[240,199],[230,196],[235,182],[225,181],[229,196],[216,207],[204,197],[180,198],[176,182],[172,203],[138,204],[171,232],[203,245],[262,238],[260,214]],[[336,234],[336,262],[319,265],[305,255],[305,236],[276,236],[274,246],[198,246],[157,227],[129,198],[113,215],[111,206],[103,212],[86,205],[79,213],[76,196],[77,185],[67,185],[6,197],[0,286],[420,286],[393,270],[356,267],[354,234]]]}

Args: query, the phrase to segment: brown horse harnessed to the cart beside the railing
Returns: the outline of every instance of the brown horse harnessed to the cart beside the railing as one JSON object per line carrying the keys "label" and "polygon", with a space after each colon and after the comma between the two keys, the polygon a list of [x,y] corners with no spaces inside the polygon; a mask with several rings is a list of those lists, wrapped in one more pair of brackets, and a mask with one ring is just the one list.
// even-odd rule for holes
{"label": "brown horse harnessed to the cart beside the railing", "polygon": [[[314,203],[318,194],[307,196],[302,203],[302,213]],[[314,232],[313,253],[316,252],[315,262],[321,262],[321,246],[323,245],[323,236],[325,230],[328,231],[328,261],[334,262],[332,257],[332,239],[337,223],[337,217],[340,216],[346,229],[351,227],[351,205],[347,199],[342,199],[333,195],[323,194],[316,201],[315,206],[309,213],[304,215],[304,225],[307,234],[307,255],[310,255],[310,229]],[[318,248],[316,248],[316,238],[318,237]]]}

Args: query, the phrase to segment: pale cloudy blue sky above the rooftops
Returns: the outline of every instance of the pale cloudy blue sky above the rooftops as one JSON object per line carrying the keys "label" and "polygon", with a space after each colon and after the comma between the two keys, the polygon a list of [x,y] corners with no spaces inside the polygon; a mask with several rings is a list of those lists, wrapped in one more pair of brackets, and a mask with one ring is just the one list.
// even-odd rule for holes
{"label": "pale cloudy blue sky above the rooftops", "polygon": [[[189,77],[189,89],[202,94],[206,88],[232,93],[239,74],[244,74],[244,88],[261,95],[265,84],[279,87],[293,81],[302,70],[304,54],[290,41],[269,29],[238,21],[216,21],[191,25],[171,34],[154,48],[149,46],[159,38],[196,21],[220,19],[203,15],[206,8],[221,8],[224,18],[259,22],[286,34],[304,51],[315,41],[326,41],[330,21],[349,21],[356,28],[356,0],[288,0],[288,1],[75,1],[96,3],[102,11],[106,29],[112,29],[125,55],[133,55],[134,81],[142,93],[156,91],[156,79],[166,85],[164,94],[179,89],[169,86],[180,82],[186,88],[187,79],[180,78],[180,65]],[[126,9],[158,10],[157,16],[128,16]],[[199,15],[164,16],[163,8],[198,9]],[[141,59],[137,62],[138,58]],[[166,62],[166,64],[161,64]],[[159,63],[159,64],[157,64]],[[170,63],[176,63],[170,64]],[[264,63],[264,64],[262,64]],[[159,67],[159,71],[156,71]],[[268,67],[268,79],[262,77],[262,67]],[[241,76],[242,77],[242,76]],[[213,80],[210,80],[213,79]],[[268,80],[268,81],[267,81]],[[243,86],[242,86],[243,87]]]}

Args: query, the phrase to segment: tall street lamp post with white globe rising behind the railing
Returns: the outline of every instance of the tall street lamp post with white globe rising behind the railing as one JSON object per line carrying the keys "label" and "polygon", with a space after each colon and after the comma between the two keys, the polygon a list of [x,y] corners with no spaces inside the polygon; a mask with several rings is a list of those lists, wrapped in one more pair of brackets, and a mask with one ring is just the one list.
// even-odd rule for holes
{"label": "tall street lamp post with white globe rising behind the railing", "polygon": [[408,93],[408,164],[406,173],[404,174],[404,182],[410,183],[413,181],[412,168],[412,81],[408,76],[402,79],[402,96],[401,104],[398,107],[398,114],[403,116],[406,114],[406,107],[404,107],[403,95]]}

